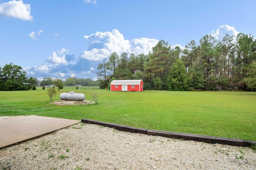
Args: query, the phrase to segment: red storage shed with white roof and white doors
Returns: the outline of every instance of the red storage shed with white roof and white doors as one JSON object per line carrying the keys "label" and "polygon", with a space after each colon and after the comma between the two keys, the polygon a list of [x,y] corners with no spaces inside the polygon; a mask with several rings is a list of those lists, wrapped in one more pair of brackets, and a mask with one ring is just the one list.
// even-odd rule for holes
{"label": "red storage shed with white roof and white doors", "polygon": [[113,80],[110,91],[143,91],[142,80]]}

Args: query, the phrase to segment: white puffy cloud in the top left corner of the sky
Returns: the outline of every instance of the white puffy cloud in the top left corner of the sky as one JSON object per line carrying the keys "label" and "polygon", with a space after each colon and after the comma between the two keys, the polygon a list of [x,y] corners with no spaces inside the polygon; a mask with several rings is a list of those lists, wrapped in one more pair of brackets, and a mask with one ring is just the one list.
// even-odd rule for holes
{"label": "white puffy cloud in the top left corner of the sky", "polygon": [[33,20],[33,17],[30,15],[30,4],[24,4],[22,0],[12,0],[0,4],[0,17],[3,16],[28,21]]}

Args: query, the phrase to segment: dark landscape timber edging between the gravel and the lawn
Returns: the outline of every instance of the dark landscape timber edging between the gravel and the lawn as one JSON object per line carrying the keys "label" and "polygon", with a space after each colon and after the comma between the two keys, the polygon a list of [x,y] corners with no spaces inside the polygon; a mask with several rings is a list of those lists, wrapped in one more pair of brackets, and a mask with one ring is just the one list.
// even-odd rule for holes
{"label": "dark landscape timber edging between the gravel and the lawn", "polygon": [[212,143],[212,144],[218,143],[218,144],[227,144],[231,146],[246,146],[246,147],[250,147],[252,146],[252,144],[256,144],[256,141],[253,141],[253,140],[224,138],[224,137],[217,137],[217,136],[191,134],[191,133],[168,132],[168,131],[161,131],[161,130],[150,130],[150,129],[144,129],[144,128],[118,125],[113,123],[100,122],[100,121],[95,121],[91,119],[82,119],[82,122],[94,124],[94,125],[100,125],[104,127],[110,127],[116,130],[121,130],[126,132],[142,133],[142,134],[147,134],[152,136],[163,136],[167,138],[175,138],[175,139],[182,139],[182,140],[194,140],[198,142],[206,142],[206,143]]}

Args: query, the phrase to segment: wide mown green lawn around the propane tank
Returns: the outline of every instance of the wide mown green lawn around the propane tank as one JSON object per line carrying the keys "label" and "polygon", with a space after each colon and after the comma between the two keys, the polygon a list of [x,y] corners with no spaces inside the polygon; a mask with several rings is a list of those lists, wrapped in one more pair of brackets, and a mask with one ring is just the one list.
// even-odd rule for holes
{"label": "wide mown green lawn around the propane tank", "polygon": [[256,93],[230,91],[112,92],[64,87],[60,93],[98,94],[98,105],[50,104],[47,90],[0,91],[0,116],[94,119],[132,127],[256,140]]}

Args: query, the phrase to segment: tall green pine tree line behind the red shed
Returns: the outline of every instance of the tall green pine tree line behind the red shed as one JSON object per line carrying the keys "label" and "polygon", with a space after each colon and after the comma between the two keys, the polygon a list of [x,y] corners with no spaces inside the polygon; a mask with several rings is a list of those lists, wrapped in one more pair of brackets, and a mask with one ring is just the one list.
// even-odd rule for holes
{"label": "tall green pine tree line behind the red shed", "polygon": [[142,79],[144,89],[256,91],[256,38],[206,35],[185,49],[161,40],[148,55],[114,52],[97,69],[102,89],[113,79]]}

